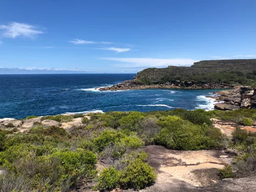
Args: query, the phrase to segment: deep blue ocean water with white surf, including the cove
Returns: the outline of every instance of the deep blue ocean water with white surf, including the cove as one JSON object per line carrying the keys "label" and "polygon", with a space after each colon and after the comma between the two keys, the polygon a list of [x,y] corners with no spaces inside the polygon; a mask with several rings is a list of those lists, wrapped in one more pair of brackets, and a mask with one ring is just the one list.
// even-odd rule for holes
{"label": "deep blue ocean water with white surf, including the cove", "polygon": [[135,74],[0,75],[0,118],[79,112],[211,110],[218,90],[146,89],[100,92],[94,88]]}

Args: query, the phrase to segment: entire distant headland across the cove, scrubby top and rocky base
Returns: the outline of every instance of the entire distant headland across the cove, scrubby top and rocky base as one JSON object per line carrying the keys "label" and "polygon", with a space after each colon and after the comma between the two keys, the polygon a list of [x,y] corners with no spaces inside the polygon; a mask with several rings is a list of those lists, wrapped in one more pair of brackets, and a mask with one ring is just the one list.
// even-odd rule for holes
{"label": "entire distant headland across the cove, scrubby top and rocky base", "polygon": [[148,68],[138,72],[134,80],[124,81],[113,88],[223,88],[256,83],[256,59],[202,60],[191,67]]}

